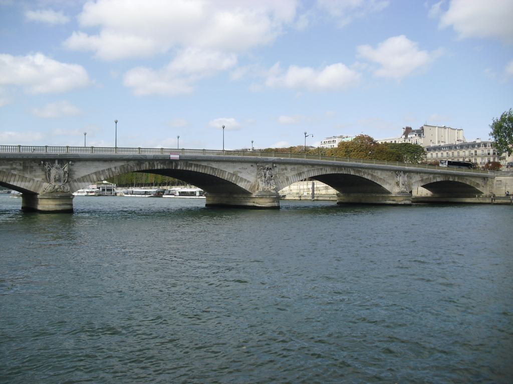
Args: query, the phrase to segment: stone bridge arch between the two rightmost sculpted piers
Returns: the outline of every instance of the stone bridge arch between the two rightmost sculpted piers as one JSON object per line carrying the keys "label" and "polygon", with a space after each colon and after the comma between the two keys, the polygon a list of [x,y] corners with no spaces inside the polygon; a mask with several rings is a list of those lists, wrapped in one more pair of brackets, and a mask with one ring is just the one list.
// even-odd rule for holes
{"label": "stone bridge arch between the two rightmost sculpted piers", "polygon": [[281,190],[307,178],[327,184],[342,194],[391,194],[394,187],[397,187],[367,169],[329,166],[305,170],[283,178],[277,183],[277,189]]}

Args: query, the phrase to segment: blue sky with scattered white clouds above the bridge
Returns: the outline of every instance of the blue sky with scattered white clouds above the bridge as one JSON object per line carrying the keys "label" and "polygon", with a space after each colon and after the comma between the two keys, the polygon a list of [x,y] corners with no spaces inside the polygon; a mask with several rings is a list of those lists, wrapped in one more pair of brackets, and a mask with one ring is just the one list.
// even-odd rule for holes
{"label": "blue sky with scattered white clouds above the bridge", "polygon": [[513,107],[511,0],[0,0],[0,144],[220,149],[487,139]]}

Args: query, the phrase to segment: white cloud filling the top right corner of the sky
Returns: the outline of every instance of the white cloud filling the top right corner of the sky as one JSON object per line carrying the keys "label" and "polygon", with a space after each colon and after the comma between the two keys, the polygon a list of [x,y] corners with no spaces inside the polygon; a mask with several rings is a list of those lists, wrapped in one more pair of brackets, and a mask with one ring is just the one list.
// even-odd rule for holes
{"label": "white cloud filling the top right corner of the sky", "polygon": [[452,26],[459,38],[496,38],[513,44],[511,0],[452,0],[440,18],[440,28]]}

